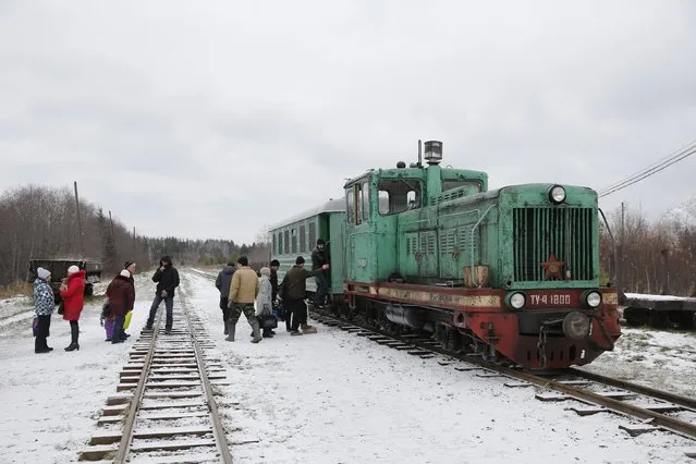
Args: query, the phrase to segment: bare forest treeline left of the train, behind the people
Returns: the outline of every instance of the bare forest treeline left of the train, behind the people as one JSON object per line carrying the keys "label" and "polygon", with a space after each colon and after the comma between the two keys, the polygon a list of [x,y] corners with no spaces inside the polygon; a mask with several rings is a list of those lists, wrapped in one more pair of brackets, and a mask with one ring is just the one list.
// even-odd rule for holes
{"label": "bare forest treeline left of the train, behind the people", "polygon": [[28,185],[0,196],[0,286],[26,281],[30,258],[98,260],[109,276],[126,259],[145,270],[156,266],[162,255],[170,255],[179,266],[218,265],[241,255],[261,262],[268,260],[269,245],[142,236],[133,225],[110,218],[109,211],[83,198],[78,220],[77,203],[69,187]]}

